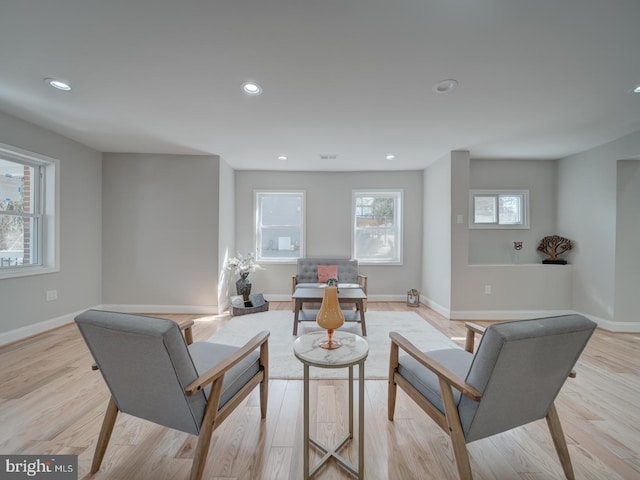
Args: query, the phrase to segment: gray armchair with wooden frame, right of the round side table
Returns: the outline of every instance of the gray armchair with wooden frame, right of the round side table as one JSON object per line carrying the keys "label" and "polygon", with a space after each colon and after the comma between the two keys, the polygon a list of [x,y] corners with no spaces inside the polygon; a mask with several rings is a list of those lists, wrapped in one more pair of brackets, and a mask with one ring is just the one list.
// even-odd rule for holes
{"label": "gray armchair with wooden frame, right of the round side table", "polygon": [[[472,348],[473,333],[482,331],[471,328]],[[573,479],[554,400],[595,328],[581,315],[494,324],[475,355],[461,348],[421,352],[391,332],[389,420],[400,386],[449,433],[458,474],[470,480],[467,443],[546,418],[564,473]]]}

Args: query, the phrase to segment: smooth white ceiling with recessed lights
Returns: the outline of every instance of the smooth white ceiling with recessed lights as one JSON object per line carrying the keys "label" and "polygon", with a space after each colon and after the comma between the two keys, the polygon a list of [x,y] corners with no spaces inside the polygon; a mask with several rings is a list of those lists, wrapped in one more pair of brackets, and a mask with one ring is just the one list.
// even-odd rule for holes
{"label": "smooth white ceiling with recessed lights", "polygon": [[553,159],[640,130],[639,48],[638,0],[0,0],[0,110],[236,169]]}

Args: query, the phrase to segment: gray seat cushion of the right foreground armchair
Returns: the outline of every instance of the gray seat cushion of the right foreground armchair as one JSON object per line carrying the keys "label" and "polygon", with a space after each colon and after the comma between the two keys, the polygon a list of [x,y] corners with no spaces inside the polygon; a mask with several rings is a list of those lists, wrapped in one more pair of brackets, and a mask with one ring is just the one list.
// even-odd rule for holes
{"label": "gray seat cushion of the right foreground armchair", "polygon": [[[432,350],[424,353],[462,379],[467,376],[469,367],[473,361],[473,355],[461,348]],[[398,373],[413,385],[427,400],[435,405],[438,410],[444,413],[440,383],[436,374],[423,367],[417,360],[409,355],[401,355],[399,357]],[[458,403],[460,392],[454,388],[453,395],[456,403]]]}

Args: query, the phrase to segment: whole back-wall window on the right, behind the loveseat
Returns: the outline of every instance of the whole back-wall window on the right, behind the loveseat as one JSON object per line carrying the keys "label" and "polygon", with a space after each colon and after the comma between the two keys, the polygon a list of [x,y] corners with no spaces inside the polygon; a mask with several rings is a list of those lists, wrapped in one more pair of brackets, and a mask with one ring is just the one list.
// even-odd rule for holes
{"label": "whole back-wall window on the right, behind the loveseat", "polygon": [[353,191],[353,258],[402,264],[402,190]]}

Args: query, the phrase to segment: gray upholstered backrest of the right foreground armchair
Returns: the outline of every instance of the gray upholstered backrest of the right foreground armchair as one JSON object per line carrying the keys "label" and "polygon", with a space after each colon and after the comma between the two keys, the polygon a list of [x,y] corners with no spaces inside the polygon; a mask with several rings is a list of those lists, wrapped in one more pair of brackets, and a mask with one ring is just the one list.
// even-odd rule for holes
{"label": "gray upholstered backrest of the right foreground armchair", "polygon": [[466,378],[482,399],[458,405],[466,441],[544,418],[595,328],[582,315],[487,328]]}

